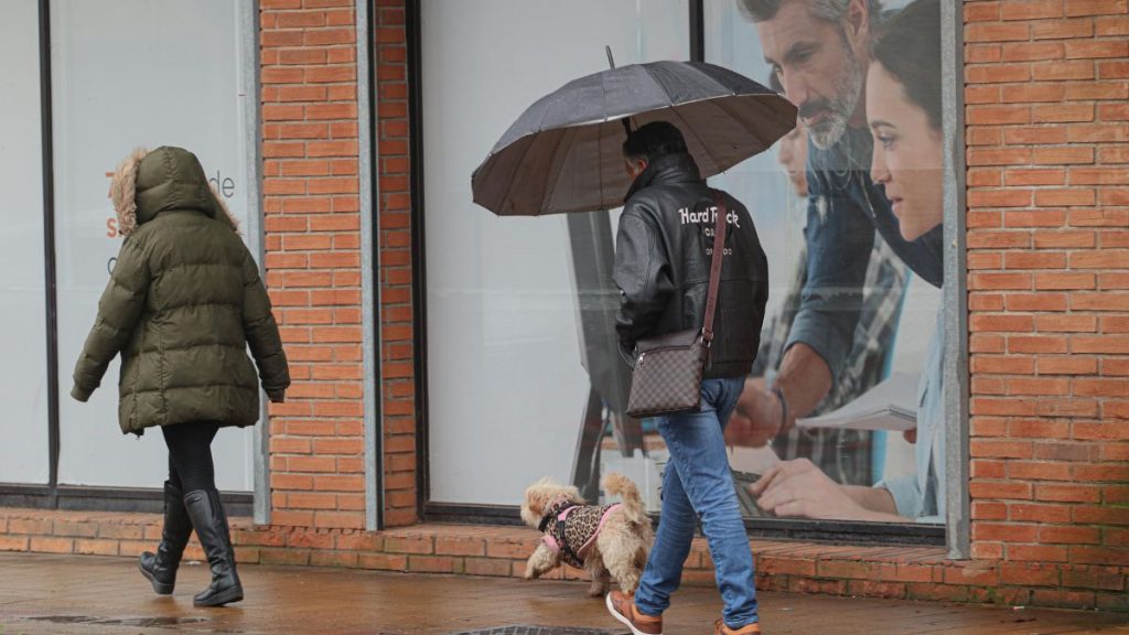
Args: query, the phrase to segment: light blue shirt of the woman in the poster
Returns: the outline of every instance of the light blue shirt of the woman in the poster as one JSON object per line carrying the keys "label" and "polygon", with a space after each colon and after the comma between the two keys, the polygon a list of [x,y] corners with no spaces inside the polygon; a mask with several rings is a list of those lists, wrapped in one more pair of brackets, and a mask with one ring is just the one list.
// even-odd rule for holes
{"label": "light blue shirt of the woman in the poster", "polygon": [[882,481],[894,498],[898,515],[916,522],[945,521],[945,324],[944,305],[937,311],[934,332],[918,384],[917,475]]}

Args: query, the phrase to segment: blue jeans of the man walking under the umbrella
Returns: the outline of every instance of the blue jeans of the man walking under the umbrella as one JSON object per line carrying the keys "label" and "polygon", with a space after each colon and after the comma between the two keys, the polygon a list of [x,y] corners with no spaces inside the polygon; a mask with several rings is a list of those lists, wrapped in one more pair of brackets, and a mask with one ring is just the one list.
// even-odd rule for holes
{"label": "blue jeans of the man walking under the umbrella", "polygon": [[682,566],[701,517],[717,588],[725,602],[725,623],[741,628],[759,619],[753,555],[723,436],[744,385],[744,377],[706,380],[700,411],[655,419],[671,460],[663,472],[663,515],[655,547],[634,599],[646,615],[662,615],[671,606],[671,594],[682,581]]}

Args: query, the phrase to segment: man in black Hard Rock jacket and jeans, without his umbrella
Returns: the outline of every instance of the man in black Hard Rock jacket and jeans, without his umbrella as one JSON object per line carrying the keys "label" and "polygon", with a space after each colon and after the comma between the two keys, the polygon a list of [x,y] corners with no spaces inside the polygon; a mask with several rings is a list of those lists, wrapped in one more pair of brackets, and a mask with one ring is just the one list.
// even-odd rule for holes
{"label": "man in black Hard Rock jacket and jeans, without his umbrella", "polygon": [[662,633],[662,615],[679,588],[700,517],[725,600],[715,633],[760,633],[753,558],[724,433],[756,356],[768,260],[749,211],[706,184],[675,125],[657,121],[631,132],[623,158],[632,184],[620,217],[613,279],[621,292],[616,331],[624,351],[642,338],[702,328],[715,215],[727,215],[728,228],[702,406],[655,417],[671,453],[658,532],[638,591],[613,591],[607,608],[637,635]]}

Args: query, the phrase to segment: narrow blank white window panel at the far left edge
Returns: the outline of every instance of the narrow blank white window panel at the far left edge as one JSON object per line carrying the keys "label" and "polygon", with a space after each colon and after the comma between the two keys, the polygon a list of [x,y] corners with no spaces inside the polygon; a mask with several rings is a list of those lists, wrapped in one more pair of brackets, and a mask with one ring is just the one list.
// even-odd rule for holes
{"label": "narrow blank white window panel at the far left edge", "polygon": [[47,340],[40,153],[40,18],[11,0],[0,20],[0,482],[45,484]]}

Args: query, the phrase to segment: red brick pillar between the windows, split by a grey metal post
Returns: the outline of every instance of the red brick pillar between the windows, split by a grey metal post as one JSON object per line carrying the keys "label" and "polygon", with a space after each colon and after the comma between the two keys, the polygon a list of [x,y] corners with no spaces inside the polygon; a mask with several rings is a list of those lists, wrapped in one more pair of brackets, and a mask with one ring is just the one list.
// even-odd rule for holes
{"label": "red brick pillar between the windows, split by a grey metal post", "polygon": [[[375,17],[385,522],[415,522],[403,0]],[[262,0],[266,269],[295,385],[271,408],[272,522],[365,521],[355,0]],[[374,261],[377,259],[374,258]],[[370,341],[375,341],[375,338]]]}

